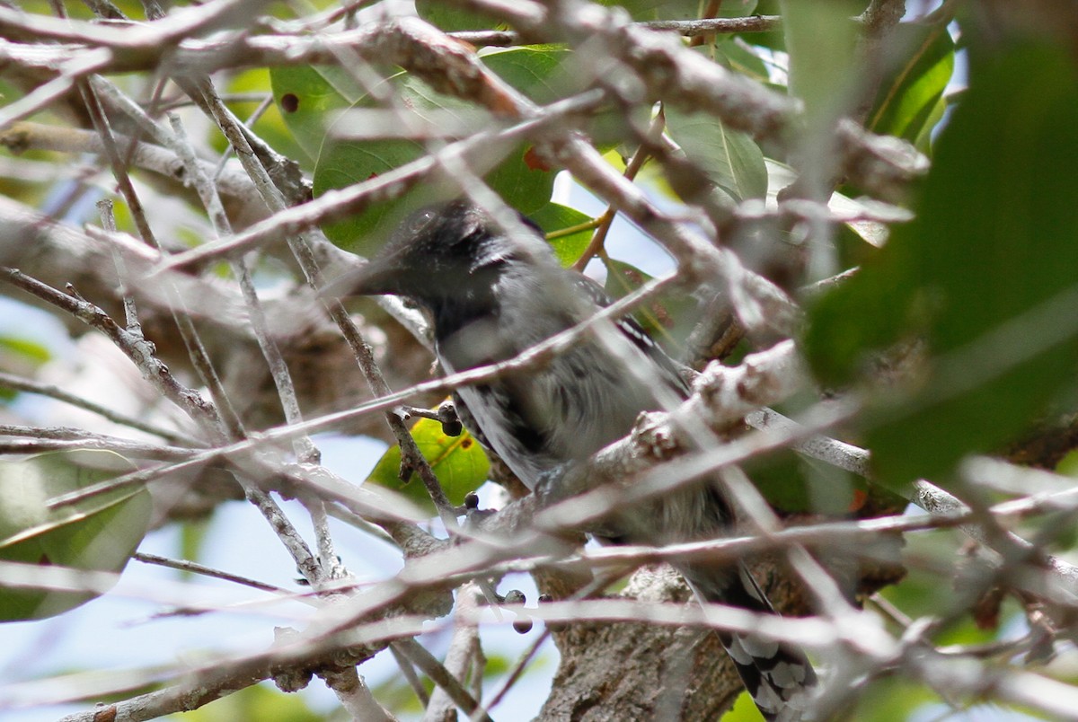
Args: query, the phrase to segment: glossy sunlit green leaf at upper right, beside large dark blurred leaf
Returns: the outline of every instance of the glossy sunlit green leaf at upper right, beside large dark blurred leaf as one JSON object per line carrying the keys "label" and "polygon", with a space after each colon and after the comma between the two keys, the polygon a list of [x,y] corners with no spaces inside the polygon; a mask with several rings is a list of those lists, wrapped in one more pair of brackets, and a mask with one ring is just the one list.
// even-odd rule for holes
{"label": "glossy sunlit green leaf at upper right, beside large dark blurred leaf", "polygon": [[873,133],[917,141],[942,115],[938,108],[954,72],[954,41],[943,24],[900,24],[888,42],[893,57],[869,113]]}

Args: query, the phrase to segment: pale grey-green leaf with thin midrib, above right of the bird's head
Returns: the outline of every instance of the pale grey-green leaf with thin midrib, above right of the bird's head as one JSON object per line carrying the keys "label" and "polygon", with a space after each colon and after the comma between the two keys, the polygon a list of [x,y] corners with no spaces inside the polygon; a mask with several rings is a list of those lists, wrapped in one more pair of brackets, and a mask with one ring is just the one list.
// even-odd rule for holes
{"label": "pale grey-green leaf with thin midrib, above right of the bird's head", "polygon": [[763,153],[747,134],[731,130],[714,115],[665,108],[666,131],[708,179],[734,200],[768,193]]}

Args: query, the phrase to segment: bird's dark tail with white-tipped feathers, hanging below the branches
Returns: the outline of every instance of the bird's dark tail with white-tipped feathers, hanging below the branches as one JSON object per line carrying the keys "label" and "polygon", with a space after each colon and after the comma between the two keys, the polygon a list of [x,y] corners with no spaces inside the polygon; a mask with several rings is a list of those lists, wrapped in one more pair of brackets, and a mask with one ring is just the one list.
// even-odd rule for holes
{"label": "bird's dark tail with white-tipped feathers, hanging below the branches", "polygon": [[[702,601],[776,613],[742,565],[718,573],[714,568],[695,565],[687,565],[680,571]],[[804,652],[750,634],[720,631],[718,636],[764,719],[776,722],[807,719],[805,707],[816,685],[816,672]]]}

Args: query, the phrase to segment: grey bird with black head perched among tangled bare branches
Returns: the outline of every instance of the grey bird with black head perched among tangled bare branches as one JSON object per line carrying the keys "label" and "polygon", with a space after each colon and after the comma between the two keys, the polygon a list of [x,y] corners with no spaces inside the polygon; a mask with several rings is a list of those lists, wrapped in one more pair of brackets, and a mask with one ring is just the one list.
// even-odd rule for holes
{"label": "grey bird with black head perched among tangled bare branches", "polygon": [[[392,294],[431,318],[446,373],[507,361],[610,304],[592,279],[563,268],[539,226],[511,223],[469,199],[423,208],[346,282],[349,295]],[[626,436],[641,412],[689,395],[679,365],[631,318],[589,335],[538,369],[458,388],[460,419],[531,490]],[[553,480],[553,481],[552,481]],[[714,483],[619,509],[591,530],[608,544],[662,545],[719,537],[733,522]],[[743,564],[677,563],[703,601],[775,613]],[[720,631],[768,720],[803,719],[816,675],[804,653]]]}

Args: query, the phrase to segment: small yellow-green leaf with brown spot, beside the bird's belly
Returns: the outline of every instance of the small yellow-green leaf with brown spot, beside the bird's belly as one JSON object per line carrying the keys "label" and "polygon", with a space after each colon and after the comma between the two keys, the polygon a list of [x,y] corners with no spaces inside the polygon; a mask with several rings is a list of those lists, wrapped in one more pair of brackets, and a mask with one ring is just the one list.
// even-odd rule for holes
{"label": "small yellow-green leaf with brown spot, beside the bird's belly", "polygon": [[[419,452],[430,463],[453,504],[462,504],[469,491],[474,491],[486,481],[490,462],[483,448],[467,431],[459,436],[447,436],[440,421],[421,418],[412,427],[412,436]],[[413,473],[407,481],[400,478],[400,446],[389,448],[375,464],[368,482],[398,491],[423,509],[433,512],[433,504],[419,476]]]}

